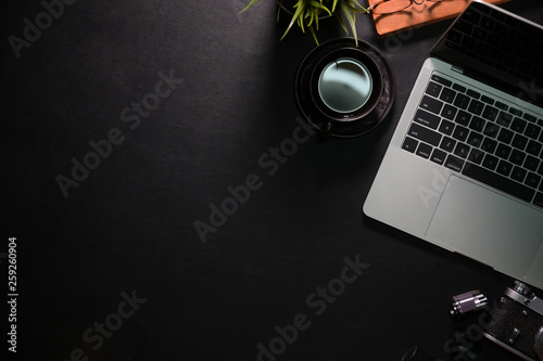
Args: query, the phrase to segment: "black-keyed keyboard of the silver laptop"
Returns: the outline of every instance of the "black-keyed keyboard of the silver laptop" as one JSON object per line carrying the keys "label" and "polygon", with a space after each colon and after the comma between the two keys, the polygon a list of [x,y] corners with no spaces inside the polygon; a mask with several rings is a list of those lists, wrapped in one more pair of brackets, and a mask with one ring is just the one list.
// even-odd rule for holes
{"label": "black-keyed keyboard of the silver laptop", "polygon": [[402,149],[543,208],[543,119],[433,74]]}

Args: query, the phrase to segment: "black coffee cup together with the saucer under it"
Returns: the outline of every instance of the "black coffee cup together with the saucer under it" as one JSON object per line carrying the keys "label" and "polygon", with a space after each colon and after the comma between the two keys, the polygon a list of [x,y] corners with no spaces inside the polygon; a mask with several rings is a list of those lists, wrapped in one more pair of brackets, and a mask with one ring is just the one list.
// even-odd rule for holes
{"label": "black coffee cup together with the saucer under it", "polygon": [[368,43],[334,39],[312,51],[296,75],[296,98],[307,120],[330,136],[354,137],[377,126],[394,98],[384,56]]}

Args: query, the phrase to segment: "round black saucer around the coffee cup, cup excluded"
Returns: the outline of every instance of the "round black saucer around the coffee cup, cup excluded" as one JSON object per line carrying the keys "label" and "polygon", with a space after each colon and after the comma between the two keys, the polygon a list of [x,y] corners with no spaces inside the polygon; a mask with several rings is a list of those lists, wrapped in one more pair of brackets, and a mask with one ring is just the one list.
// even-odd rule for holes
{"label": "round black saucer around the coffee cup, cup excluded", "polygon": [[[323,112],[319,100],[315,99],[316,69],[323,66],[321,60],[352,57],[370,69],[377,69],[371,74],[374,78],[379,77],[380,87],[376,89],[377,96],[369,108],[353,114],[331,114]],[[387,116],[395,95],[395,78],[392,67],[384,55],[374,46],[358,40],[356,47],[353,38],[338,38],[324,42],[313,49],[302,61],[295,78],[296,102],[305,119],[315,128],[323,131],[328,138],[349,138],[362,136],[377,127]],[[320,104],[321,105],[321,104]]]}

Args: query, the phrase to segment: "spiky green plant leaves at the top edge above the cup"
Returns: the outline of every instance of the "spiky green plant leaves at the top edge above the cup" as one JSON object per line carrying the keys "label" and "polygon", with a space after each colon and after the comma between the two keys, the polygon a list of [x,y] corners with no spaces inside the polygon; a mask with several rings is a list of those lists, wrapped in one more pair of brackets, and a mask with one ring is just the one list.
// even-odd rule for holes
{"label": "spiky green plant leaves at the top edge above the cup", "polygon": [[[260,0],[251,0],[245,9],[241,11],[244,12],[253,4]],[[351,27],[354,40],[358,44],[358,38],[356,36],[356,13],[367,13],[368,10],[363,8],[357,0],[276,0],[279,4],[279,10],[277,13],[277,20],[279,20],[279,13],[281,9],[292,14],[292,20],[290,21],[287,30],[281,37],[281,40],[290,31],[294,24],[305,33],[308,29],[313,35],[315,42],[318,44],[316,30],[318,30],[319,18],[336,16],[341,27],[349,35],[348,25]],[[290,3],[290,5],[289,5]]]}

